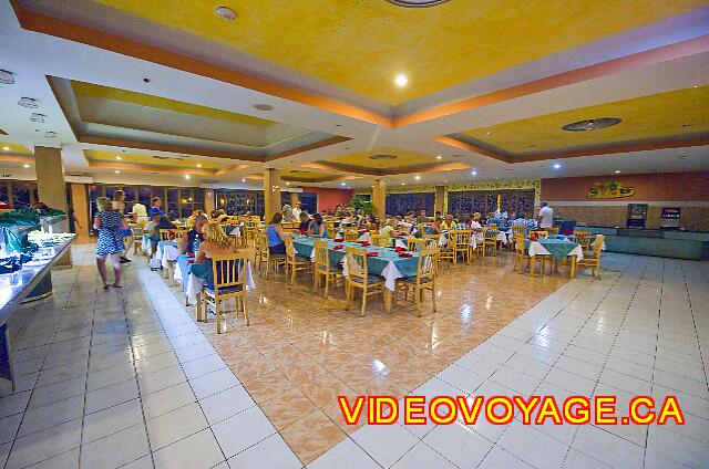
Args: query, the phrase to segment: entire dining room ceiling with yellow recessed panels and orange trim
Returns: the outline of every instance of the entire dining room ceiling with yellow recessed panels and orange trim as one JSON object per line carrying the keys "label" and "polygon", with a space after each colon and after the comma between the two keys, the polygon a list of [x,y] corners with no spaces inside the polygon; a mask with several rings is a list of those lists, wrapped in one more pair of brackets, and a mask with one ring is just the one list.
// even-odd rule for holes
{"label": "entire dining room ceiling with yellow recessed panels and orange trim", "polygon": [[[234,21],[202,0],[1,3],[0,144],[212,186],[709,169],[707,1],[224,6]],[[620,123],[561,129],[600,117]]]}

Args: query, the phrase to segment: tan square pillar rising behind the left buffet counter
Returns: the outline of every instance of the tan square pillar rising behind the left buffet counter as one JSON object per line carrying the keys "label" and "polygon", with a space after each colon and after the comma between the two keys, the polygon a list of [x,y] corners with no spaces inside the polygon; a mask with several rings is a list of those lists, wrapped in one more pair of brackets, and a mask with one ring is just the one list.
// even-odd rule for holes
{"label": "tan square pillar rising behind the left buffet counter", "polygon": [[[34,171],[40,201],[50,208],[66,212],[66,185],[61,148],[34,147]],[[69,222],[66,222],[66,231],[69,231]],[[66,252],[55,265],[71,267],[71,252]]]}

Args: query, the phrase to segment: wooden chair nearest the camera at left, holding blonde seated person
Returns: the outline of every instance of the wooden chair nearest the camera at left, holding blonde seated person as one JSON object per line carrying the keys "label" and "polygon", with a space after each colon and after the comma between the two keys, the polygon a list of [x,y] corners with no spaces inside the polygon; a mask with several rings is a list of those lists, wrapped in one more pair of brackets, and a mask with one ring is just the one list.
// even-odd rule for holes
{"label": "wooden chair nearest the camera at left, holding blonde seated person", "polygon": [[[203,308],[197,306],[197,321],[206,322],[207,308],[214,304],[214,312],[217,317],[217,334],[222,334],[222,303],[233,298],[236,302],[236,313],[239,312],[239,301],[246,325],[249,325],[248,309],[246,308],[246,265],[248,259],[245,252],[226,256],[215,256],[212,258],[212,275],[214,278],[214,290],[205,288],[202,292]],[[202,316],[204,314],[204,316]],[[201,317],[202,316],[202,317]]]}

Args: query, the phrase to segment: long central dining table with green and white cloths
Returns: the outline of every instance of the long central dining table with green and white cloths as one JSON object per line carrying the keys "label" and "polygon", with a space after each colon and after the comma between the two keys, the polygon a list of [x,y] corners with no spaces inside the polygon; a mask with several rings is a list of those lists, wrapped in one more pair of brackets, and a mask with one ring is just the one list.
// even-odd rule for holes
{"label": "long central dining table with green and white cloths", "polygon": [[[312,242],[317,238],[311,237],[296,237],[294,239],[294,248],[296,252],[304,258],[309,258],[315,261],[315,248]],[[362,242],[346,242],[336,241],[333,239],[325,239],[328,243],[328,260],[330,265],[342,265],[342,275],[348,277],[347,258],[345,256],[346,248],[364,248],[368,253],[373,252],[376,256],[367,256],[367,271],[369,273],[380,275],[384,279],[384,304],[387,311],[391,311],[391,298],[392,292],[397,285],[397,279],[408,279],[417,277],[419,267],[419,254],[417,252],[409,252],[411,257],[402,257],[394,248],[382,248],[378,246],[364,246]],[[341,246],[341,248],[337,248]],[[404,251],[401,251],[404,252]]]}

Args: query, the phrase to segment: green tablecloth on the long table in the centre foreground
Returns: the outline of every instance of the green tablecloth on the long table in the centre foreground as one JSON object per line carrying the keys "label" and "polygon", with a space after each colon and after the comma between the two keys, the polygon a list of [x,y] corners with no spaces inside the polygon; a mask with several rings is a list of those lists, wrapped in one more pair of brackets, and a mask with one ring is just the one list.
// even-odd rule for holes
{"label": "green tablecloth on the long table in the centre foreground", "polygon": [[[296,252],[306,258],[312,258],[312,241],[315,238],[297,238],[294,240],[294,248]],[[330,265],[337,265],[342,262],[345,258],[345,248],[342,249],[332,249],[336,244],[342,244],[345,247],[352,248],[361,248],[362,246],[359,242],[335,242],[331,239],[326,240],[328,242],[328,254]],[[401,275],[404,278],[415,277],[417,275],[417,267],[419,262],[419,254],[415,252],[411,252],[411,258],[400,258],[399,253],[393,248],[379,248],[376,246],[368,246],[367,252],[377,252],[379,256],[377,257],[368,257],[367,258],[367,270],[370,273],[374,273],[377,275],[381,275],[382,271],[387,268],[389,262],[393,262]]]}

